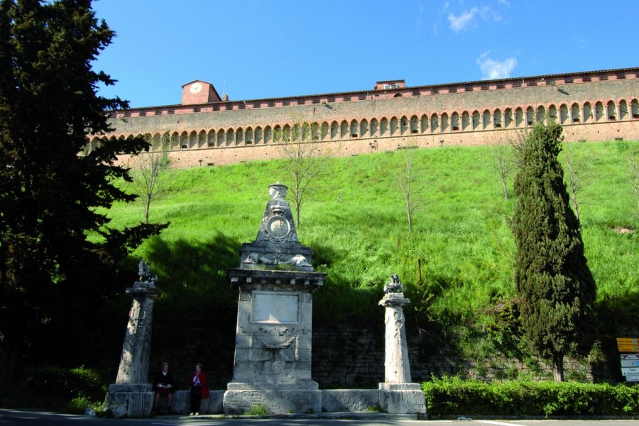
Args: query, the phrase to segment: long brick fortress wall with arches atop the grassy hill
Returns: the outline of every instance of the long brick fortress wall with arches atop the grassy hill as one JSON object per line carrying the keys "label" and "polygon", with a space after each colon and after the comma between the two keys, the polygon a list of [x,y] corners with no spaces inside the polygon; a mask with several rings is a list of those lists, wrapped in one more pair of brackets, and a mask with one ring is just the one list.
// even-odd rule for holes
{"label": "long brick fortress wall with arches atop the grassy hill", "polygon": [[275,135],[295,121],[321,129],[318,146],[332,155],[494,143],[538,119],[559,121],[569,142],[637,140],[637,75],[613,70],[113,111],[114,133],[93,137],[89,148],[147,135],[170,139],[174,167],[268,160],[280,155]]}

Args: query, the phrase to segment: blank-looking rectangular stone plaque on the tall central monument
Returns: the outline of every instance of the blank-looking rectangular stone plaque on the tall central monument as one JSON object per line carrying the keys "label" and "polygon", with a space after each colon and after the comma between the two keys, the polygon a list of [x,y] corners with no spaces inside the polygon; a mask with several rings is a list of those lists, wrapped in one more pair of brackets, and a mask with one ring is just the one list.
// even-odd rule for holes
{"label": "blank-looking rectangular stone plaque on the tall central monument", "polygon": [[298,293],[253,292],[252,322],[298,324]]}

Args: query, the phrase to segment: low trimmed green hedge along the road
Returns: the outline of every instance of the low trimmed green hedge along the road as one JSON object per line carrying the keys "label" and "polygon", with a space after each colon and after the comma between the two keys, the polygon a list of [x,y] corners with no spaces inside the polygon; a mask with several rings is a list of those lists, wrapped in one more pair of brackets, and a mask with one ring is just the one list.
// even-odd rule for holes
{"label": "low trimmed green hedge along the road", "polygon": [[503,381],[484,383],[434,378],[422,383],[428,416],[639,415],[639,386],[606,383]]}

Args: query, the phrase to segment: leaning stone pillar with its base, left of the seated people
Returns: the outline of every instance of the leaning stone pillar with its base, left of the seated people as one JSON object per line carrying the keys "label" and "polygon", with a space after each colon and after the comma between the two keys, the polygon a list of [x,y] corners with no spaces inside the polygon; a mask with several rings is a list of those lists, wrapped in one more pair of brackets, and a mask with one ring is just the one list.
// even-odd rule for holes
{"label": "leaning stone pillar with its base, left of the seated people", "polygon": [[148,363],[151,354],[153,327],[153,299],[160,291],[155,287],[158,276],[151,274],[148,263],[138,264],[138,280],[126,293],[133,296],[129,324],[116,383],[109,386],[105,405],[115,417],[143,417],[153,408],[153,385],[148,382]]}

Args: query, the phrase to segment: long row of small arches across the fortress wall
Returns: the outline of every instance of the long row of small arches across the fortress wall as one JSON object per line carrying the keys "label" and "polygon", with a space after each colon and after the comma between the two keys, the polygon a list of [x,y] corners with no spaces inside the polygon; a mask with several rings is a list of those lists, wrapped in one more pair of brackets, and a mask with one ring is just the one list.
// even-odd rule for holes
{"label": "long row of small arches across the fortress wall", "polygon": [[[160,140],[170,143],[171,150],[192,148],[224,148],[280,143],[301,136],[315,141],[339,141],[352,138],[376,138],[406,135],[423,135],[455,131],[482,131],[515,129],[532,126],[535,121],[554,121],[559,124],[588,124],[604,121],[639,119],[639,102],[626,99],[618,102],[584,102],[579,104],[549,104],[536,108],[515,107],[484,109],[483,111],[453,111],[433,114],[383,116],[373,119],[313,122],[299,129],[297,124],[273,126],[238,126],[226,129],[200,131],[173,131],[160,134],[146,133],[153,143]],[[133,135],[128,135],[133,136]],[[124,138],[121,135],[120,138]],[[300,137],[297,137],[299,139]],[[93,143],[97,143],[94,138]]]}

